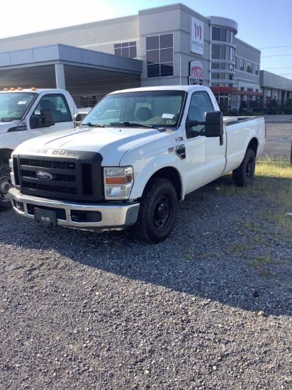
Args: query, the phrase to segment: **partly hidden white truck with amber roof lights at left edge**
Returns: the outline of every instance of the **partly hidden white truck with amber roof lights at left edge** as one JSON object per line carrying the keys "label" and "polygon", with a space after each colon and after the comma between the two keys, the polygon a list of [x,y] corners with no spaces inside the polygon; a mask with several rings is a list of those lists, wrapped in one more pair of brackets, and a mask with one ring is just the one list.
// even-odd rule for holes
{"label": "partly hidden white truck with amber roof lights at left edge", "polygon": [[62,89],[5,89],[0,92],[0,210],[11,207],[9,159],[23,141],[74,127],[77,107]]}

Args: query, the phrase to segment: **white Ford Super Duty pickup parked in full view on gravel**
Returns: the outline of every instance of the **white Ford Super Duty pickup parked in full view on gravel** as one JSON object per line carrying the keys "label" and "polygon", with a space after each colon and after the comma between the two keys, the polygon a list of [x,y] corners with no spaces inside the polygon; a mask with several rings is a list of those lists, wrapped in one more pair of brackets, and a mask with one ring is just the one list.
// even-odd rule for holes
{"label": "white Ford Super Duty pickup parked in full view on gravel", "polygon": [[208,87],[108,94],[77,128],[28,140],[10,160],[15,211],[47,225],[120,230],[147,243],[174,227],[186,194],[233,172],[252,183],[264,118],[225,118]]}

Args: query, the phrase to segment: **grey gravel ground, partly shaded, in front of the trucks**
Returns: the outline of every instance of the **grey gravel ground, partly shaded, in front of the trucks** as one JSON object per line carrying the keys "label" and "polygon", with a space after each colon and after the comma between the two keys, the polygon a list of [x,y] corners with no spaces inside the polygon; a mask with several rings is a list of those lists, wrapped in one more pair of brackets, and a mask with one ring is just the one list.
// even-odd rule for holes
{"label": "grey gravel ground, partly shaded, in front of the trucks", "polygon": [[159,245],[0,213],[0,389],[292,389],[292,247],[203,187]]}

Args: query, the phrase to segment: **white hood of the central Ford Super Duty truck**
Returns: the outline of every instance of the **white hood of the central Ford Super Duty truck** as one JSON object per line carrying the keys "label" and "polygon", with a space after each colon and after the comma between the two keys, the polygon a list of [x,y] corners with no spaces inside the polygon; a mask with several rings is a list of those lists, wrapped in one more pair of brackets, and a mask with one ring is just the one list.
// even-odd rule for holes
{"label": "white hood of the central Ford Super Duty truck", "polygon": [[103,157],[103,165],[113,164],[113,157],[116,164],[119,164],[125,152],[130,148],[162,138],[167,133],[166,128],[122,127],[64,130],[27,140],[16,148],[15,154],[35,155],[45,149],[99,152]]}

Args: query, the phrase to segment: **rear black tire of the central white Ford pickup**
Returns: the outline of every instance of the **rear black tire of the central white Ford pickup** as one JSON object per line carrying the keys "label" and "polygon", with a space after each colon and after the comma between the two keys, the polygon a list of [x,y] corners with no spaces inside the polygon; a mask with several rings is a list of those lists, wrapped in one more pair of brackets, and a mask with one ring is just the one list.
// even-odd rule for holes
{"label": "rear black tire of the central white Ford pickup", "polygon": [[240,166],[232,172],[236,186],[248,186],[254,182],[255,155],[252,149],[247,149]]}

